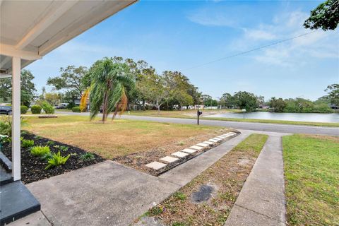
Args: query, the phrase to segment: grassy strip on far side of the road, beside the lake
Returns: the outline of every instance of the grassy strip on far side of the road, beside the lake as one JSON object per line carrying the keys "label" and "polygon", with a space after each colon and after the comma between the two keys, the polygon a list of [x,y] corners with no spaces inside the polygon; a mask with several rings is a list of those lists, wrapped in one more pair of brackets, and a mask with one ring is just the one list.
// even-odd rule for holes
{"label": "grassy strip on far side of the road, beside the lake", "polygon": [[[232,112],[239,112],[239,109],[232,109]],[[227,110],[203,110],[203,113],[207,115],[222,114],[230,112]],[[182,119],[196,119],[196,110],[184,110],[184,111],[161,111],[160,114],[154,110],[148,111],[131,111],[131,115],[148,116],[148,117],[169,117],[169,118],[182,118]],[[287,124],[287,125],[300,125],[300,126],[328,126],[339,127],[339,123],[329,122],[311,122],[311,121],[285,121],[285,120],[271,120],[271,119],[233,119],[233,118],[218,118],[218,117],[201,117],[206,120],[218,120],[218,121],[244,121],[244,122],[258,122],[268,124]]]}

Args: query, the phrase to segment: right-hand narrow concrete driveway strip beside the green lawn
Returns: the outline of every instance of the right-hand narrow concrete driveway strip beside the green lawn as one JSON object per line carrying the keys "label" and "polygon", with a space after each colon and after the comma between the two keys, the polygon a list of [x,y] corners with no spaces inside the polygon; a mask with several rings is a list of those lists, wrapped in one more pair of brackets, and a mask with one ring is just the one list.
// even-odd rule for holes
{"label": "right-hand narrow concrete driveway strip beside the green lawn", "polygon": [[269,135],[225,226],[285,225],[283,134]]}

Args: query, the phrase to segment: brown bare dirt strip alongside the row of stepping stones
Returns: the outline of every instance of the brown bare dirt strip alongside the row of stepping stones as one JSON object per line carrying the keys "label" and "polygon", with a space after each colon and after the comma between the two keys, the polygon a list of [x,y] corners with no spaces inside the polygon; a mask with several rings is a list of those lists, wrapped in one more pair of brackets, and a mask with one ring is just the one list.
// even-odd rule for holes
{"label": "brown bare dirt strip alongside the row of stepping stones", "polygon": [[[189,148],[191,145],[196,145],[196,143],[201,143],[203,141],[207,141],[210,138],[213,138],[215,136],[220,136],[223,133],[229,132],[229,129],[219,129],[218,131],[214,131],[211,133],[203,134],[200,136],[192,136],[189,138],[186,138],[182,141],[177,141],[174,143],[169,143],[167,145],[159,146],[156,148],[151,148],[150,150],[145,150],[144,152],[138,152],[133,153],[130,155],[124,155],[121,157],[114,158],[114,161],[117,161],[121,164],[128,165],[129,167],[133,167],[135,169],[141,170],[143,172],[147,172],[148,174],[152,174],[157,176],[158,174],[161,174],[162,172],[165,172],[167,170],[167,167],[171,168],[172,165],[178,165],[180,162],[174,162],[171,164],[168,164],[166,168],[155,171],[153,169],[150,169],[149,167],[145,167],[146,164],[154,161],[160,161],[160,158],[165,157],[167,155],[171,155],[174,152],[177,152],[179,150],[183,150],[184,148]],[[219,143],[216,143],[215,145],[219,145]],[[213,148],[213,146],[209,146],[208,148],[203,148],[202,150],[196,151],[196,153],[188,155],[187,159],[194,157],[196,155],[201,154],[202,152]],[[182,159],[182,161],[186,161],[187,159]],[[161,161],[160,161],[161,162]],[[164,162],[168,163],[168,162]]]}

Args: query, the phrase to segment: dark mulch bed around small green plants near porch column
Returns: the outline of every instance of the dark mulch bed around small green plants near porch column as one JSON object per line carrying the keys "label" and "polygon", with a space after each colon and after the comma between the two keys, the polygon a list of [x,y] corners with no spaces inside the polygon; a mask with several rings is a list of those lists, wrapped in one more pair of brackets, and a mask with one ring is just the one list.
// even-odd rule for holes
{"label": "dark mulch bed around small green plants near porch column", "polygon": [[[48,145],[49,141],[52,141],[47,138],[42,138],[39,136],[35,136],[31,133],[26,133],[22,135],[26,140],[33,140],[34,145]],[[67,145],[65,143],[60,143],[58,141],[52,141],[53,144],[49,144],[49,148],[51,153],[58,153],[58,145],[68,147],[68,150],[61,150],[60,153],[63,156],[71,155],[69,160],[65,163],[65,165],[60,165],[59,167],[52,167],[49,169],[44,169],[47,166],[47,161],[40,160],[40,157],[33,156],[30,154],[30,148],[21,148],[21,181],[24,184],[28,184],[31,182],[39,181],[40,179],[46,179],[49,177],[53,177],[59,174],[63,174],[65,172],[69,172],[75,169],[80,169],[82,167],[87,167],[89,165],[93,165],[98,162],[104,161],[102,157],[99,155],[94,155],[93,160],[82,161],[79,159],[80,155],[88,153],[87,151],[77,148],[71,145]],[[11,150],[11,143],[4,143],[2,148],[2,153],[11,160],[12,150]]]}

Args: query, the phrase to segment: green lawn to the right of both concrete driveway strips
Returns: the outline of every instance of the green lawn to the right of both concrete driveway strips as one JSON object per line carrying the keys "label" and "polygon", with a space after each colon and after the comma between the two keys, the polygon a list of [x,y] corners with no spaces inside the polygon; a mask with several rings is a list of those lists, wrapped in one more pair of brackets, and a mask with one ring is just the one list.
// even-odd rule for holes
{"label": "green lawn to the right of both concrete driveway strips", "polygon": [[283,137],[288,225],[339,225],[339,137]]}

